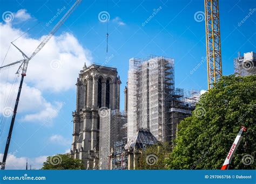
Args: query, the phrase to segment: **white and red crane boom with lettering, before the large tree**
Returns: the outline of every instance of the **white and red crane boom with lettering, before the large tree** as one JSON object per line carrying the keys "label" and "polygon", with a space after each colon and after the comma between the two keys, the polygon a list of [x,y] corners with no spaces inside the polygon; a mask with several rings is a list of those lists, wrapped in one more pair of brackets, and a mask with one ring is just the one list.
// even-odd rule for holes
{"label": "white and red crane boom with lettering, before the large tree", "polygon": [[240,144],[240,141],[242,140],[242,132],[246,132],[247,128],[245,126],[242,126],[240,131],[238,132],[237,137],[234,140],[234,143],[232,144],[230,151],[227,153],[226,160],[224,161],[223,166],[221,167],[221,170],[226,170],[231,164],[232,158],[234,157],[235,151],[237,151],[237,148]]}

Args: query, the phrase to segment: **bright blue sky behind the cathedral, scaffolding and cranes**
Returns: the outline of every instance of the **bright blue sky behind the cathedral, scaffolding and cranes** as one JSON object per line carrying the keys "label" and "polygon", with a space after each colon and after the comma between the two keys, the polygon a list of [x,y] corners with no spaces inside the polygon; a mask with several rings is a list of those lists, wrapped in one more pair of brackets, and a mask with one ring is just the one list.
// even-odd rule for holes
{"label": "bright blue sky behind the cathedral, scaffolding and cranes", "polygon": [[[41,39],[42,36],[48,34],[52,27],[58,22],[59,18],[64,15],[75,1],[1,0],[0,2],[1,15],[6,11],[13,12],[15,15],[12,22],[9,23],[5,23],[2,17],[1,32],[3,35],[6,34],[3,31],[5,30],[2,28],[3,26],[5,26],[5,28],[7,27],[6,30],[11,29],[25,32],[36,25],[26,34],[24,43],[19,44],[22,49],[31,53],[36,45],[28,48],[29,45],[26,44],[26,41],[31,41],[32,39],[34,43],[36,40]],[[219,3],[223,74],[230,75],[234,72],[233,58],[237,56],[239,51],[241,53],[256,51],[256,5],[253,0],[220,1]],[[52,72],[52,76],[54,76],[56,70],[53,71],[50,66],[46,66],[41,70],[41,68],[35,64],[37,62],[36,59],[39,60],[39,56],[38,58],[35,57],[34,61],[31,61],[31,65],[33,66],[28,69],[28,76],[25,77],[26,85],[28,88],[30,87],[29,89],[32,88],[35,90],[39,96],[42,97],[43,100],[41,101],[43,101],[44,107],[50,107],[52,109],[57,108],[58,113],[57,115],[53,114],[52,118],[50,118],[51,122],[48,125],[42,124],[40,119],[33,119],[33,116],[30,116],[29,121],[28,117],[24,120],[23,117],[26,117],[27,114],[31,114],[32,112],[36,113],[36,108],[32,110],[28,108],[29,110],[18,113],[9,152],[15,152],[13,160],[19,159],[20,165],[24,163],[24,158],[29,158],[31,162],[37,163],[34,164],[35,167],[37,167],[39,162],[43,160],[43,158],[41,158],[42,156],[64,153],[71,147],[73,128],[71,112],[75,110],[76,103],[76,88],[74,84],[76,83],[76,77],[79,70],[82,69],[85,60],[87,64],[91,62],[104,64],[105,58],[112,55],[113,58],[107,62],[107,65],[117,67],[122,80],[121,91],[123,91],[127,81],[127,70],[129,69],[130,58],[144,58],[150,54],[163,55],[174,58],[176,87],[198,90],[207,89],[206,61],[201,61],[202,58],[206,56],[205,22],[200,19],[201,13],[204,12],[203,0],[109,0],[108,4],[109,9],[107,10],[106,1],[82,1],[55,35],[56,45],[64,40],[62,42],[64,51],[54,46],[50,49],[50,46],[48,47],[47,44],[45,48],[42,49],[41,52],[43,53],[46,52],[47,49],[50,49],[52,55],[54,55],[55,50],[60,55],[63,53],[70,54],[70,61],[62,62],[62,60],[58,58],[61,61],[60,63],[62,64],[63,70],[61,70],[62,67],[58,68],[57,71],[59,73],[57,78],[59,78],[52,78],[56,83],[47,86],[47,83],[51,82],[51,79],[48,81],[44,81],[43,79],[44,75],[47,77],[48,72]],[[53,20],[49,26],[46,25],[53,16],[56,15],[58,9],[64,9],[64,11],[60,13],[60,16]],[[23,11],[18,13],[19,10]],[[106,23],[100,22],[98,18],[99,13],[102,11],[108,11],[110,15],[108,53],[106,53],[107,25]],[[157,11],[156,15],[145,24],[145,21],[154,11]],[[252,12],[252,15],[246,18],[250,12]],[[199,19],[195,18],[195,15],[198,14]],[[245,21],[241,23],[243,19],[245,19]],[[16,39],[17,36],[13,38],[10,36],[10,41]],[[5,36],[1,38],[5,38]],[[3,40],[1,40],[1,42],[2,41]],[[76,41],[78,41],[79,47],[76,47]],[[1,63],[7,49],[6,45],[1,44]],[[11,55],[11,53],[8,53],[8,56],[9,55]],[[16,52],[15,55],[22,59],[22,56],[18,52]],[[11,56],[9,58],[8,56],[4,64],[14,61],[11,60]],[[42,56],[44,56],[46,60],[48,59],[47,54]],[[72,60],[72,57],[75,57],[75,60]],[[41,62],[41,66],[43,67],[44,62],[38,61],[38,63],[39,62]],[[65,68],[64,65],[66,62],[69,62],[70,66],[73,66],[70,70],[69,68]],[[200,66],[191,74],[193,68],[198,64]],[[40,80],[36,81],[38,84],[36,84],[35,79],[32,79],[32,76],[30,76],[30,73],[35,73],[35,70],[38,71],[38,73],[35,75],[31,74],[32,76],[43,76]],[[11,72],[9,72],[10,77],[12,77]],[[10,80],[6,79],[5,75],[2,74],[2,82],[10,82]],[[71,81],[66,88],[63,86],[63,82],[65,82],[62,80],[63,78]],[[41,81],[43,81],[42,86]],[[15,95],[17,93],[16,91]],[[23,91],[22,93],[25,92]],[[22,95],[25,96],[25,99],[29,99],[30,94]],[[1,96],[1,101],[4,102],[4,100],[5,97]],[[120,101],[121,109],[124,109],[123,93]],[[29,103],[33,103],[33,101]],[[25,104],[24,101],[23,104]],[[13,107],[14,104],[10,106]],[[26,105],[22,106],[24,109],[25,107]],[[2,108],[5,107],[2,106]],[[0,136],[0,153],[4,151],[10,119],[11,117],[6,119],[3,132]],[[17,168],[19,167],[17,166]],[[15,166],[9,166],[9,168],[15,168]]]}

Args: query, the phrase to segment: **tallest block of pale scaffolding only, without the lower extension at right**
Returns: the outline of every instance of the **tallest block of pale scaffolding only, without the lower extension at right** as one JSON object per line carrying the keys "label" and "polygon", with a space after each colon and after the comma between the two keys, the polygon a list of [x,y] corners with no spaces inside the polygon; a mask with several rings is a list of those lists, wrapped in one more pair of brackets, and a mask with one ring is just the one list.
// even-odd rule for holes
{"label": "tallest block of pale scaffolding only, without the lower extension at right", "polygon": [[174,90],[174,60],[150,55],[130,59],[128,73],[128,138],[138,129],[150,129],[160,141],[166,141],[169,99]]}

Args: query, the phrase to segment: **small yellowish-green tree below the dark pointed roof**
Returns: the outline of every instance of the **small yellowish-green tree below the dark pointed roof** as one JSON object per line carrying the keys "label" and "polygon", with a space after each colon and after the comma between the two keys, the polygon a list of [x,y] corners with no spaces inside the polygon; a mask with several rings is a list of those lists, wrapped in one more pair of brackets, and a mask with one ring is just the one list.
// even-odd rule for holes
{"label": "small yellowish-green tree below the dark pointed roof", "polygon": [[169,157],[169,147],[168,144],[147,147],[139,154],[138,168],[136,169],[167,169],[164,160]]}

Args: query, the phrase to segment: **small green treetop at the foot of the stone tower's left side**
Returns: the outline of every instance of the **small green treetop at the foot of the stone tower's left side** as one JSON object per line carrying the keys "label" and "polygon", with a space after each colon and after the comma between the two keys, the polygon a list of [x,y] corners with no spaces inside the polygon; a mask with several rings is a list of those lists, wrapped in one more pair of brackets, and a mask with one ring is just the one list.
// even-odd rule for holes
{"label": "small green treetop at the foot of the stone tower's left side", "polygon": [[73,159],[69,154],[57,154],[52,157],[48,157],[43,163],[42,169],[84,169],[84,166],[82,164],[82,160]]}

